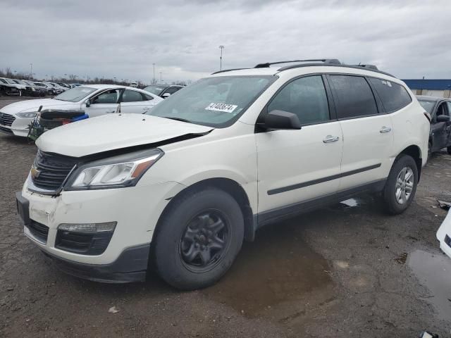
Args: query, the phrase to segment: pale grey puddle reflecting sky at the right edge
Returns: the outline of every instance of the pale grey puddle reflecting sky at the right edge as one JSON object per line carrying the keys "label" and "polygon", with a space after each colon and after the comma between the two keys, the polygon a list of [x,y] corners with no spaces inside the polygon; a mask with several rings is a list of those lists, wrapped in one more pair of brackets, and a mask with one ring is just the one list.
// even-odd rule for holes
{"label": "pale grey puddle reflecting sky at the right edge", "polygon": [[451,319],[451,259],[442,253],[434,255],[422,250],[409,254],[407,260],[421,284],[431,292],[426,301],[433,304],[440,318]]}

